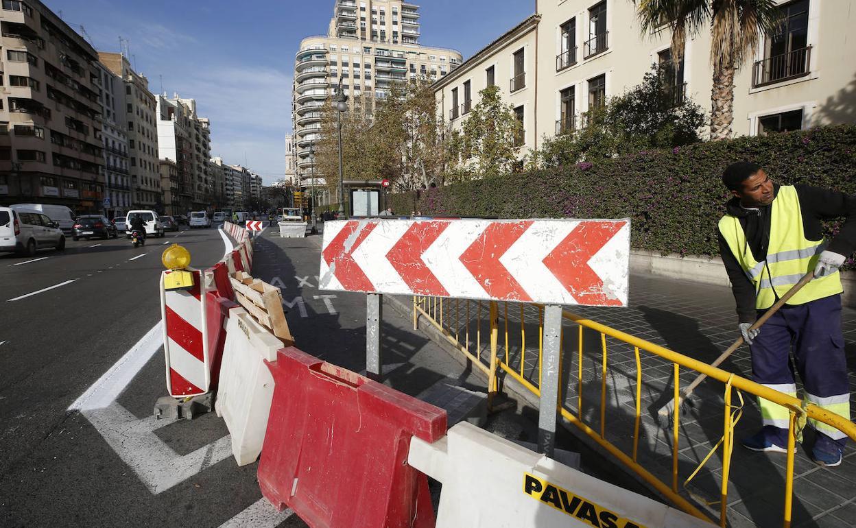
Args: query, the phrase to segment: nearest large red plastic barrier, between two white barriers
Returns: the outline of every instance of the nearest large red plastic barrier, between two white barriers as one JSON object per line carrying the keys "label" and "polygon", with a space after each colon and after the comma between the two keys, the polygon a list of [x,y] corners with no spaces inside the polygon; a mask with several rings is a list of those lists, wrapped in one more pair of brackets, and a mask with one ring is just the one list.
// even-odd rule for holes
{"label": "nearest large red plastic barrier, between two white barriers", "polygon": [[276,383],[262,495],[312,528],[433,528],[428,479],[407,465],[412,436],[436,442],[446,412],[288,347]]}

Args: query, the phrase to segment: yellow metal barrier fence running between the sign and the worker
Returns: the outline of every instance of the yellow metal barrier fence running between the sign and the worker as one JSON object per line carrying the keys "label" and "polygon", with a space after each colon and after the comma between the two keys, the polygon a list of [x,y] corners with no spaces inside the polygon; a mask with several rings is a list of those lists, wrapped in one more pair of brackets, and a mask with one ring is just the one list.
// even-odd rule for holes
{"label": "yellow metal barrier fence running between the sign and the worker", "polygon": [[[502,322],[500,321],[500,312],[502,312]],[[509,312],[513,316],[509,319]],[[457,300],[443,299],[437,297],[413,297],[413,329],[418,328],[419,316],[425,317],[425,320],[435,326],[443,333],[446,340],[461,352],[467,359],[470,359],[473,365],[484,375],[488,377],[488,395],[489,401],[496,394],[499,388],[499,371],[505,372],[506,375],[514,378],[526,390],[532,392],[533,395],[540,397],[540,365],[543,355],[543,335],[544,335],[544,306],[536,304],[524,303],[499,303],[491,301],[476,301],[476,300]],[[519,315],[519,321],[514,321],[513,318]],[[735,376],[734,374],[723,371],[716,367],[693,359],[681,353],[676,353],[666,347],[661,347],[650,341],[639,339],[633,335],[626,334],[620,330],[610,328],[601,323],[597,323],[585,317],[577,316],[568,311],[562,312],[563,320],[568,325],[576,328],[566,328],[562,326],[562,340],[565,336],[575,334],[577,345],[577,368],[575,370],[577,376],[577,394],[576,394],[576,410],[572,412],[566,408],[566,398],[563,397],[563,387],[568,385],[568,382],[562,381],[559,385],[559,406],[557,411],[568,422],[574,424],[587,436],[590,436],[609,454],[615,456],[622,464],[633,470],[645,482],[651,484],[654,489],[657,489],[662,495],[673,501],[676,506],[681,507],[687,513],[691,513],[701,519],[708,519],[701,510],[698,509],[692,502],[688,501],[679,493],[678,489],[678,474],[679,474],[679,446],[681,432],[681,405],[678,405],[679,396],[681,395],[681,368],[685,374],[690,374],[694,377],[696,374],[706,374],[710,379],[716,380],[724,384],[723,400],[724,400],[724,422],[722,428],[721,440],[714,442],[710,454],[718,449],[722,443],[722,478],[718,486],[718,503],[719,503],[719,519],[718,523],[721,526],[727,524],[727,505],[728,505],[728,482],[731,476],[731,453],[734,447],[734,424],[739,419],[741,412],[739,408],[732,405],[732,393],[734,389],[745,392],[750,395],[755,395],[765,400],[770,400],[778,405],[785,406],[790,412],[790,427],[788,434],[788,454],[786,463],[785,490],[784,490],[784,513],[782,525],[789,528],[791,525],[792,500],[794,490],[794,453],[795,442],[794,438],[800,432],[798,428],[800,423],[805,423],[805,418],[813,418],[817,421],[829,424],[835,429],[843,431],[847,436],[856,440],[856,424],[843,418],[839,415],[827,412],[821,407],[815,406],[805,400],[800,400],[790,395],[778,392],[776,390],[764,387],[758,383],[754,383],[744,377]],[[510,325],[510,328],[509,328]],[[519,325],[520,339],[514,343],[517,334],[517,329],[514,325]],[[488,341],[482,338],[482,329],[485,329],[489,335]],[[533,346],[527,348],[526,334],[527,331],[531,334],[535,330],[538,332],[538,347],[537,354],[532,350]],[[574,332],[574,330],[576,330]],[[599,374],[599,413],[597,413],[597,428],[594,427],[592,416],[587,416],[584,412],[583,395],[585,392],[584,363],[586,354],[586,330],[596,333],[597,345],[600,349],[600,361],[595,367],[588,369],[591,374]],[[500,335],[502,332],[502,337]],[[609,349],[607,338],[617,341],[620,347],[633,348],[634,370],[635,370],[635,415],[633,417],[633,435],[631,445],[627,450],[630,454],[625,453],[614,442],[610,442],[606,438],[606,409],[607,409],[607,378],[608,378],[608,362]],[[529,337],[529,344],[532,345],[534,338]],[[500,343],[504,344],[503,353],[500,353]],[[516,345],[519,344],[519,347]],[[564,344],[564,342],[563,342]],[[484,349],[484,350],[483,350]],[[639,461],[639,435],[640,424],[642,418],[642,389],[643,389],[643,361],[640,351],[650,353],[650,359],[656,359],[659,363],[649,365],[646,368],[657,369],[660,373],[664,369],[668,369],[672,377],[672,388],[675,398],[675,412],[672,417],[672,428],[670,435],[670,455],[671,455],[671,478],[669,484],[663,482],[660,478],[654,475],[653,472],[643,466]],[[528,352],[528,354],[527,354]],[[564,347],[562,347],[562,356],[560,357],[560,375],[563,372],[563,365],[568,360],[566,358]],[[596,359],[596,358],[593,358]],[[671,364],[671,365],[669,365]],[[570,381],[572,369],[568,368],[568,381]],[[591,380],[594,381],[594,380]],[[664,389],[664,388],[663,388]],[[655,389],[652,389],[655,390]],[[662,389],[659,389],[662,390]],[[656,391],[656,390],[655,390]],[[740,396],[742,401],[742,396]],[[800,420],[800,418],[803,418]],[[710,457],[710,454],[708,457]],[[704,461],[707,460],[707,457]],[[655,461],[656,463],[656,461]],[[698,469],[696,470],[698,472]],[[690,478],[693,478],[693,475]],[[685,486],[687,481],[685,481]],[[708,505],[715,504],[717,501],[707,502]]]}

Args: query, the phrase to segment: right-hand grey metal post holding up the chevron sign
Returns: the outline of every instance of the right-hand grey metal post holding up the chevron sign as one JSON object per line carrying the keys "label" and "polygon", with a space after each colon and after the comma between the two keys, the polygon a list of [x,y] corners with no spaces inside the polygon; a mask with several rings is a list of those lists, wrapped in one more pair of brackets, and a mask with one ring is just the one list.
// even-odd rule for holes
{"label": "right-hand grey metal post holding up the chevron sign", "polygon": [[556,407],[559,404],[559,358],[562,354],[562,306],[544,307],[544,353],[538,406],[538,453],[553,458],[556,448]]}

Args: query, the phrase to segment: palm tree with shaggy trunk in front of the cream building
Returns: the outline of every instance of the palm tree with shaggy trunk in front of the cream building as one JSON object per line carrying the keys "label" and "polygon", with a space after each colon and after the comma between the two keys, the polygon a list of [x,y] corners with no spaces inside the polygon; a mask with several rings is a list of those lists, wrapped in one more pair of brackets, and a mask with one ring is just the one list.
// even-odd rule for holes
{"label": "palm tree with shaggy trunk in front of the cream building", "polygon": [[710,138],[728,138],[734,120],[734,70],[751,56],[761,34],[775,32],[780,20],[775,0],[641,0],[638,16],[643,35],[671,28],[675,65],[687,38],[710,27]]}

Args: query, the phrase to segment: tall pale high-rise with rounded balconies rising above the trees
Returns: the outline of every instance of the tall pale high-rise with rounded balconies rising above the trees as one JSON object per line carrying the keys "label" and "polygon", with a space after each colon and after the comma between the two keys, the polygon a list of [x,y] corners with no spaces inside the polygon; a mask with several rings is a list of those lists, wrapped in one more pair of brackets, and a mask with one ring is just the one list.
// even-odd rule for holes
{"label": "tall pale high-rise with rounded balconies rising above the trees", "polygon": [[[401,0],[335,0],[326,35],[300,42],[294,61],[293,149],[306,179],[309,146],[320,136],[324,101],[342,82],[352,110],[371,116],[389,87],[409,77],[442,79],[461,53],[419,44],[419,6]],[[304,186],[306,187],[306,186]]]}

